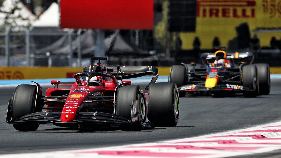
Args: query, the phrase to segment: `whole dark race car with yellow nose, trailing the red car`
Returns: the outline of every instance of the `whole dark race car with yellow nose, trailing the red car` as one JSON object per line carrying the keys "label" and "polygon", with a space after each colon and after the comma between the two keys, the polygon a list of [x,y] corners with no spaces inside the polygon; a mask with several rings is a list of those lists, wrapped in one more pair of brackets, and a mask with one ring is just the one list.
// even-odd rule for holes
{"label": "whole dark race car with yellow nose, trailing the red car", "polygon": [[[173,65],[169,82],[178,86],[179,95],[207,93],[220,96],[223,93],[243,93],[256,97],[270,92],[269,65],[251,64],[254,54],[250,52],[226,54],[219,50],[201,55],[202,65],[181,63]],[[245,61],[248,61],[245,62]],[[223,93],[222,93],[223,92]]]}

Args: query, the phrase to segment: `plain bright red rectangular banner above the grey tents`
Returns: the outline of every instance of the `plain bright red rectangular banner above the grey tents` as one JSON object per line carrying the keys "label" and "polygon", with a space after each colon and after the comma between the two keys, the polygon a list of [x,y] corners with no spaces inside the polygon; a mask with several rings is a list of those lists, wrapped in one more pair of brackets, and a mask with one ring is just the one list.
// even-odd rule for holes
{"label": "plain bright red rectangular banner above the grey tents", "polygon": [[60,27],[153,29],[153,0],[60,0]]}

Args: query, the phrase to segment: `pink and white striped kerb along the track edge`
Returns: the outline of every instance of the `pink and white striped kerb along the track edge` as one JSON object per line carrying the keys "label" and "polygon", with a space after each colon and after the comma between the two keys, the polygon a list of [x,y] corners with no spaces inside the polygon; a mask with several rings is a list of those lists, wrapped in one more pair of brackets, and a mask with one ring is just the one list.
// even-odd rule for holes
{"label": "pink and white striped kerb along the track edge", "polygon": [[85,150],[67,150],[30,154],[1,155],[3,158],[123,158],[123,157],[228,157],[281,149],[281,122],[248,129],[209,134],[194,138],[174,139]]}

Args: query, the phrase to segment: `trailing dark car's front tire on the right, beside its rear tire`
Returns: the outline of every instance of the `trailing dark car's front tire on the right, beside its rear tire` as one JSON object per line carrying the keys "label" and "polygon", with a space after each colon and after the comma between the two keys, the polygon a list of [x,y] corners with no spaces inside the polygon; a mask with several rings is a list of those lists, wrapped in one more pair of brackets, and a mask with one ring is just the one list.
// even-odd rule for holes
{"label": "trailing dark car's front tire on the right, beside its rear tire", "polygon": [[259,95],[259,78],[255,65],[245,65],[242,67],[241,81],[243,86],[250,87],[254,91],[244,91],[245,97],[257,97]]}

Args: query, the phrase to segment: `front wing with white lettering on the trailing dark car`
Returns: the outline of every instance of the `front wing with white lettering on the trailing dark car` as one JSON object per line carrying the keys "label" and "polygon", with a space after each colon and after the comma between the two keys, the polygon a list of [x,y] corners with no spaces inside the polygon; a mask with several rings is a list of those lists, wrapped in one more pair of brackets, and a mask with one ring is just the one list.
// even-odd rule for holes
{"label": "front wing with white lettering on the trailing dark car", "polygon": [[186,92],[192,92],[192,91],[233,91],[237,93],[242,93],[243,91],[254,91],[253,88],[245,87],[239,84],[217,84],[213,88],[206,88],[205,84],[187,84],[180,86],[178,88],[179,91],[186,91]]}

